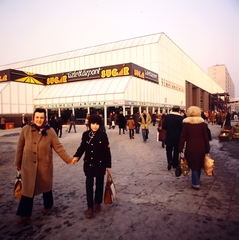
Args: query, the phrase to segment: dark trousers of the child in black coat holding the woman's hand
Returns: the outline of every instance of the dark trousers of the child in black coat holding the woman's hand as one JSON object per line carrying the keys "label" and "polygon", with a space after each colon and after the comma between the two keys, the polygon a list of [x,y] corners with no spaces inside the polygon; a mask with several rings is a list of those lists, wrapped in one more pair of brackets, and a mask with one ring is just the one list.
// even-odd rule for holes
{"label": "dark trousers of the child in black coat holding the woman's hand", "polygon": [[[95,197],[93,193],[94,187],[94,178],[96,179],[96,188],[95,188]],[[103,199],[104,191],[104,176],[102,177],[86,177],[86,196],[87,196],[87,205],[89,208],[93,208],[95,204],[101,204]]]}

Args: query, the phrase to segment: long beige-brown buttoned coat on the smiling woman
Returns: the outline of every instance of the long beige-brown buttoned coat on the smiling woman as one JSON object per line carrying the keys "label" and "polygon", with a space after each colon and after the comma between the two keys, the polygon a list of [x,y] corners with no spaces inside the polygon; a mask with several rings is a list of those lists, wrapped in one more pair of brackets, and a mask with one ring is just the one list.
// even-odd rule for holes
{"label": "long beige-brown buttoned coat on the smiling woman", "polygon": [[73,157],[66,153],[53,128],[46,136],[30,125],[21,130],[14,165],[21,167],[22,195],[32,198],[52,190],[52,148],[66,163],[71,162]]}

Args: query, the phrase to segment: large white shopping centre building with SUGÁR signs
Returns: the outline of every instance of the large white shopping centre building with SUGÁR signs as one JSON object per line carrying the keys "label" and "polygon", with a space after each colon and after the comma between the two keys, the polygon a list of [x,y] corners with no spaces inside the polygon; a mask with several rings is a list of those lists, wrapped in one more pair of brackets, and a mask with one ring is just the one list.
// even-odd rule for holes
{"label": "large white shopping centre building with SUG\u00c1R signs", "polygon": [[119,109],[207,111],[209,94],[223,91],[164,33],[0,67],[0,114],[9,116],[41,106],[48,115],[79,119],[99,111],[107,123]]}

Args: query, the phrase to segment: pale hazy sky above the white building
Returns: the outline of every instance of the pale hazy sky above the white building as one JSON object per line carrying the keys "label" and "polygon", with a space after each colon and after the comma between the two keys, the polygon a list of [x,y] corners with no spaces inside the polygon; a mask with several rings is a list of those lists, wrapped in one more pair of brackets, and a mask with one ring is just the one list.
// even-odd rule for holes
{"label": "pale hazy sky above the white building", "polygon": [[164,32],[239,98],[239,0],[0,0],[0,66]]}

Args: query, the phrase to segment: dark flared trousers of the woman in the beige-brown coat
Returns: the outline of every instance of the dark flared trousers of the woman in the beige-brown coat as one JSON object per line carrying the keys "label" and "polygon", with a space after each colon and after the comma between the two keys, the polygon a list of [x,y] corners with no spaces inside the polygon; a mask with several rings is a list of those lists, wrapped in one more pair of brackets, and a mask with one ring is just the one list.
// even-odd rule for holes
{"label": "dark flared trousers of the woman in the beige-brown coat", "polygon": [[[17,209],[17,215],[30,217],[32,215],[32,208],[33,208],[33,198],[29,198],[26,196],[22,196],[20,203]],[[52,191],[43,193],[43,204],[44,208],[50,208],[53,205],[53,195]]]}

